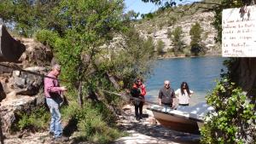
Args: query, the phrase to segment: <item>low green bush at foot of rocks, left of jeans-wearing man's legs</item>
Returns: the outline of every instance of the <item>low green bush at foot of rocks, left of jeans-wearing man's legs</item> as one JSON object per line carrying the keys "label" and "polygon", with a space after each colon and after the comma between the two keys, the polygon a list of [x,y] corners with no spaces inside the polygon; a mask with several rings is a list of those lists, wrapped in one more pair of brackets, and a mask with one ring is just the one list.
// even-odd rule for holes
{"label": "low green bush at foot of rocks, left of jeans-wearing man's legs", "polygon": [[18,128],[19,130],[39,131],[48,127],[50,114],[44,107],[38,107],[32,112],[19,113],[19,117],[14,130]]}

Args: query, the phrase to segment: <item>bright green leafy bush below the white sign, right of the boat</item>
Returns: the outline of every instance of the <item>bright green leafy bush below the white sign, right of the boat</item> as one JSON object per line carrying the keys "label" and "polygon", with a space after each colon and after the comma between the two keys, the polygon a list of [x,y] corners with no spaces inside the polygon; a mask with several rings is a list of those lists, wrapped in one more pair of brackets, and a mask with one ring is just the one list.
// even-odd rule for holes
{"label": "bright green leafy bush below the white sign, right of the boat", "polygon": [[253,143],[256,137],[255,106],[235,84],[218,82],[207,103],[215,112],[206,117],[201,130],[202,143]]}

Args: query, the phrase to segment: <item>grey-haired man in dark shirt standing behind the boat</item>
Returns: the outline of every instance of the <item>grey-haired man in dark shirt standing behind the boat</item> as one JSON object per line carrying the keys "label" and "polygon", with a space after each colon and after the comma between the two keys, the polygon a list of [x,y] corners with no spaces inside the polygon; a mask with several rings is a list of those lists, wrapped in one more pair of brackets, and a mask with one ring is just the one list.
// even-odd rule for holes
{"label": "grey-haired man in dark shirt standing behind the boat", "polygon": [[175,98],[174,90],[170,87],[170,82],[165,81],[165,86],[159,91],[159,105],[165,107],[174,107],[173,99]]}

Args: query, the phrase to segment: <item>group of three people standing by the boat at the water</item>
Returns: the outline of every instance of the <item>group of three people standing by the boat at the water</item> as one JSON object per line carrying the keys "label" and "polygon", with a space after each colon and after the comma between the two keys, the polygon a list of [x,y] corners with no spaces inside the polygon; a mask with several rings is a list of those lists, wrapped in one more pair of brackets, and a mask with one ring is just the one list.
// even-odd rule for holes
{"label": "group of three people standing by the boat at the water", "polygon": [[[188,107],[189,99],[194,92],[189,89],[189,84],[182,82],[180,88],[174,91],[171,88],[170,81],[164,82],[164,87],[159,91],[159,105],[164,107],[176,108],[174,99],[178,99],[178,107]],[[143,118],[143,104],[145,101],[146,87],[143,84],[142,78],[137,78],[131,88],[131,95],[133,97],[133,104],[135,107],[135,117],[137,120]]]}

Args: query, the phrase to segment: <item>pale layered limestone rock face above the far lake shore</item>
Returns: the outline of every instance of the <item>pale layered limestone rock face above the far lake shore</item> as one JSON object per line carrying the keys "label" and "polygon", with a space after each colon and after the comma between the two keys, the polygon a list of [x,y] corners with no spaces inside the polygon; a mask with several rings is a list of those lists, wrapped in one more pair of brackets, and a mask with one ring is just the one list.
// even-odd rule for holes
{"label": "pale layered limestone rock face above the far lake shore", "polygon": [[[166,15],[161,15],[161,17],[165,17]],[[181,19],[177,21],[173,25],[164,25],[164,26],[157,26],[154,24],[154,20],[147,22],[142,22],[141,24],[137,24],[135,27],[137,28],[137,31],[140,33],[142,37],[153,37],[154,43],[156,44],[159,40],[165,43],[164,51],[167,51],[169,49],[173,49],[174,45],[172,43],[172,39],[168,37],[168,31],[172,32],[177,26],[182,27],[183,31],[183,43],[186,46],[189,46],[190,44],[190,35],[189,31],[193,25],[195,25],[196,22],[199,22],[201,29],[203,30],[201,34],[202,44],[207,48],[207,53],[210,53],[212,55],[216,55],[214,53],[220,54],[220,51],[216,51],[216,43],[214,40],[214,37],[217,36],[217,31],[212,26],[214,14],[213,12],[202,12],[199,14],[191,14],[189,17],[186,17],[185,19]],[[160,19],[160,18],[159,18]],[[166,20],[167,17],[165,17]],[[160,19],[161,20],[161,19]],[[155,20],[155,21],[160,21]],[[164,22],[164,21],[162,21]]]}

